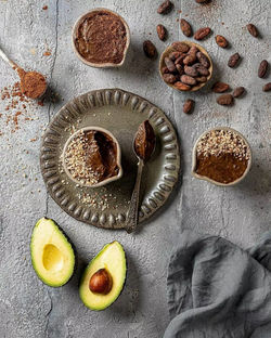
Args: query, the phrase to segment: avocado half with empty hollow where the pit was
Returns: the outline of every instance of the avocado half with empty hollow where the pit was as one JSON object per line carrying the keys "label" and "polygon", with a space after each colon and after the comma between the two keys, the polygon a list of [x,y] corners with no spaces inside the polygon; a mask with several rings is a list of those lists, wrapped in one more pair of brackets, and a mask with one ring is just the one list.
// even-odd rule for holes
{"label": "avocado half with empty hollow where the pit was", "polygon": [[75,253],[66,236],[53,220],[40,219],[33,231],[33,266],[39,278],[50,286],[62,286],[72,277]]}

